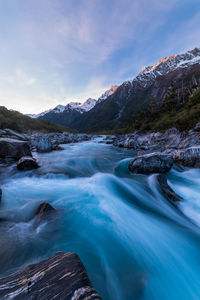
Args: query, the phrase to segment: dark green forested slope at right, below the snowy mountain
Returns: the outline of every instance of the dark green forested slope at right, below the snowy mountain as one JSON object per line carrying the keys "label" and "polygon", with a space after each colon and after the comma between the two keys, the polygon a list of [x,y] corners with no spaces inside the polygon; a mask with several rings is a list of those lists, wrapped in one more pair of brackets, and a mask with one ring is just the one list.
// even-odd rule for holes
{"label": "dark green forested slope at right, below the snowy mountain", "polygon": [[125,131],[165,131],[172,127],[184,131],[200,122],[200,88],[192,95],[185,95],[184,101],[180,102],[173,86],[170,86],[162,104],[156,103],[152,101],[146,112],[134,116]]}

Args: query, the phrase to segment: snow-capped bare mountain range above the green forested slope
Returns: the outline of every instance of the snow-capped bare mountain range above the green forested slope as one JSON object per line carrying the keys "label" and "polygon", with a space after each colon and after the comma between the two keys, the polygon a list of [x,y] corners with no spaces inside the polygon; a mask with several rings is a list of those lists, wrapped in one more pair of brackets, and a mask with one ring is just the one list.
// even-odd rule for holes
{"label": "snow-capped bare mountain range above the green forested slope", "polygon": [[180,103],[200,87],[200,48],[165,57],[153,66],[144,67],[132,81],[111,87],[98,100],[58,105],[30,116],[82,132],[116,130],[125,128],[152,102],[161,105],[172,85]]}

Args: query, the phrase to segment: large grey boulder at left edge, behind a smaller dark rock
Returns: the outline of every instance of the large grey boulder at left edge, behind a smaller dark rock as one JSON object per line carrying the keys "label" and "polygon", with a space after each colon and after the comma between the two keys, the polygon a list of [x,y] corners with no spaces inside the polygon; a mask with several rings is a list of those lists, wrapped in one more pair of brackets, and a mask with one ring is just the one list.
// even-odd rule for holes
{"label": "large grey boulder at left edge, behind a smaller dark rock", "polygon": [[0,138],[0,158],[20,159],[31,156],[29,144],[16,139]]}

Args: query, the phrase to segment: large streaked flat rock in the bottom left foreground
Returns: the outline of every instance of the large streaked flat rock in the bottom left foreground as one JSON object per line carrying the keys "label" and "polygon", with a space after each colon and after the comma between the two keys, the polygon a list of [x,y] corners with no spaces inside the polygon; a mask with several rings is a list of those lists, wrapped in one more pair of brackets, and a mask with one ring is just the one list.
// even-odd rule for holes
{"label": "large streaked flat rock in the bottom left foreground", "polygon": [[74,253],[57,252],[39,263],[0,278],[0,299],[99,300]]}

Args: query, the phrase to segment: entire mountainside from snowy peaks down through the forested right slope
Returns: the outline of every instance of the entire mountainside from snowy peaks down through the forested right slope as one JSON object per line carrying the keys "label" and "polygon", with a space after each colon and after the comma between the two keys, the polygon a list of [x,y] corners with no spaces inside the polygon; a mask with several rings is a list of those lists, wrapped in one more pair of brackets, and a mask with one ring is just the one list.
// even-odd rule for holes
{"label": "entire mountainside from snowy peaks down through the forested right slope", "polygon": [[[132,81],[112,86],[98,100],[89,98],[83,104],[71,102],[66,106],[58,105],[54,109],[30,116],[90,133],[152,128],[163,130],[173,126],[184,130],[192,128],[195,121],[198,121],[198,109],[195,109],[195,117],[190,118],[190,122],[187,121],[186,124],[186,116],[180,116],[177,122],[168,114],[169,108],[173,108],[176,118],[180,111],[183,115],[188,110],[188,103],[190,107],[194,107],[191,98],[194,93],[194,98],[199,98],[198,88],[200,48],[195,48],[184,54],[165,57],[153,66],[144,67]],[[194,102],[196,105],[196,100]],[[152,115],[154,119],[158,119],[159,124],[156,121],[152,123]],[[163,116],[164,124],[160,121]]]}

